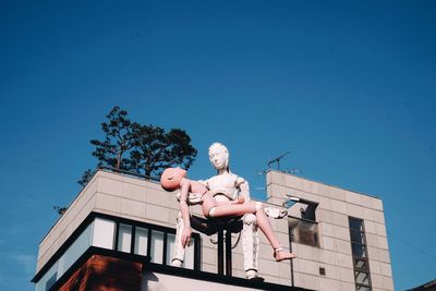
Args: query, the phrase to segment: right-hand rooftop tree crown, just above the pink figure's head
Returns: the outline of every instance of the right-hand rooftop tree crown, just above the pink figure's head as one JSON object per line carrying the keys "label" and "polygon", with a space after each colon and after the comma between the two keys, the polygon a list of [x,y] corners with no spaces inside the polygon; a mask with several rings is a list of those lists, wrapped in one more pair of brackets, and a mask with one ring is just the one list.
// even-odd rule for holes
{"label": "right-hand rooftop tree crown, just above the pink figure's head", "polygon": [[183,130],[165,132],[160,126],[138,124],[134,128],[134,148],[130,159],[138,173],[160,175],[166,168],[174,166],[189,169],[196,154],[191,137]]}

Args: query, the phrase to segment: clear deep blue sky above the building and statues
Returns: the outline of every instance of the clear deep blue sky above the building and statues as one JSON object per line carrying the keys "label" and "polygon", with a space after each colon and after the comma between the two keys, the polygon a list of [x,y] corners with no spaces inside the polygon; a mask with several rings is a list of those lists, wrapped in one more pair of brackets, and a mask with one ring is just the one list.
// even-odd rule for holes
{"label": "clear deep blue sky above the building and statues", "polygon": [[232,170],[264,197],[268,159],[384,201],[398,290],[435,279],[434,1],[2,1],[0,289],[33,290],[53,205],[95,166],[116,105],[182,128],[193,178]]}

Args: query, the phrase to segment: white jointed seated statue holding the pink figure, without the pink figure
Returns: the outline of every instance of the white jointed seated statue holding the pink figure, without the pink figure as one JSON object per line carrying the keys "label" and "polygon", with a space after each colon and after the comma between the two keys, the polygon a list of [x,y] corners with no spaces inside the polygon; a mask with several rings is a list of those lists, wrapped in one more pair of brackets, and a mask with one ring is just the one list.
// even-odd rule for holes
{"label": "white jointed seated statue holding the pink figure, without the pink figure", "polygon": [[[209,190],[209,193],[214,196],[217,204],[250,204],[250,187],[249,183],[241,177],[233,174],[230,172],[229,168],[229,151],[220,143],[214,143],[209,147],[209,159],[215,169],[217,170],[217,175],[211,177],[206,181],[201,181],[206,189]],[[203,193],[202,193],[203,194]],[[202,194],[191,193],[189,196],[189,204],[201,204],[202,203]],[[180,198],[179,198],[180,201]],[[276,218],[281,218],[286,214],[277,213],[271,215],[271,208],[266,208],[266,213],[269,213],[269,216],[274,216]],[[277,210],[277,209],[276,209]],[[261,216],[263,215],[263,211]],[[186,222],[184,222],[186,221]],[[242,217],[242,247],[244,254],[244,269],[245,276],[247,279],[258,278],[257,275],[257,255],[258,255],[258,234],[257,234],[257,217],[254,213],[246,211]],[[177,242],[175,242],[175,252],[172,258],[172,266],[181,266],[184,258],[184,245],[182,245],[182,241],[186,240],[186,233],[184,232],[185,226],[187,227],[191,221],[186,218],[183,218],[182,213],[179,213],[178,226],[177,226]],[[192,221],[194,222],[194,221]],[[269,225],[269,221],[267,221]],[[194,225],[195,226],[195,225]],[[183,237],[184,235],[184,237]],[[183,238],[182,238],[183,237]],[[276,241],[275,241],[276,243]],[[272,244],[272,243],[271,243]],[[272,246],[277,246],[272,244]]]}

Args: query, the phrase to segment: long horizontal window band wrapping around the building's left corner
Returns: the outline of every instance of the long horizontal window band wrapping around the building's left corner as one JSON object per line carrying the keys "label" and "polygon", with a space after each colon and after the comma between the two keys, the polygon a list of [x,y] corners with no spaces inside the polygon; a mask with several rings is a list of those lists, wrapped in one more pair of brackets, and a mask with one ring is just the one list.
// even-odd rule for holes
{"label": "long horizontal window band wrapping around the building's left corner", "polygon": [[[36,291],[49,290],[90,246],[149,256],[152,263],[164,265],[170,265],[175,247],[174,229],[95,213],[71,239],[53,255],[53,262],[35,276]],[[193,233],[182,267],[198,270],[199,252],[199,235]]]}

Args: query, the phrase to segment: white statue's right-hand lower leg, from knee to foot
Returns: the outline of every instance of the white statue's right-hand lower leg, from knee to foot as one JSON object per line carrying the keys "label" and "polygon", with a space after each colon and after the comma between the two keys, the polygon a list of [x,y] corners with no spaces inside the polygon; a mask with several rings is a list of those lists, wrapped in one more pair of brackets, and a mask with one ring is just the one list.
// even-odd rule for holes
{"label": "white statue's right-hand lower leg, from knee to foot", "polygon": [[244,221],[242,228],[242,250],[244,252],[244,269],[247,279],[257,278],[258,263],[258,234],[256,216],[246,214],[242,218]]}

